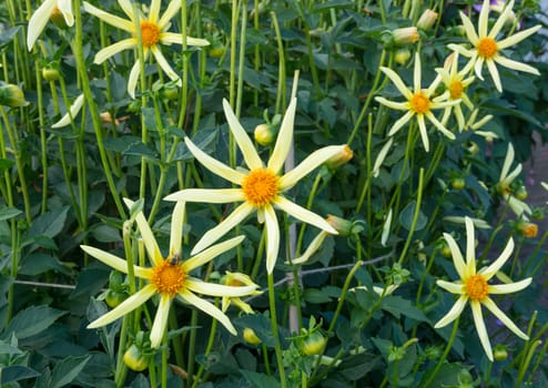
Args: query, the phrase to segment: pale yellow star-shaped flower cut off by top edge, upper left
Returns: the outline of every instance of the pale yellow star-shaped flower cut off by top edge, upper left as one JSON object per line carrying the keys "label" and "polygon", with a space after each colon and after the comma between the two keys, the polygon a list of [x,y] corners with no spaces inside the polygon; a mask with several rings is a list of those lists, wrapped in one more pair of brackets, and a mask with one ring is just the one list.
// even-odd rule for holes
{"label": "pale yellow star-shaped flower cut off by top edge, upper left", "polygon": [[[168,74],[172,81],[181,82],[181,79],[171,68],[168,60],[162,54],[160,50],[160,44],[170,45],[172,43],[183,44],[183,40],[186,41],[189,45],[207,45],[209,41],[205,39],[197,39],[191,37],[183,37],[181,33],[168,32],[171,27],[170,20],[181,9],[181,0],[172,0],[168,4],[165,12],[160,17],[160,6],[161,0],[151,0],[151,6],[149,10],[149,16],[135,14],[133,10],[133,4],[130,0],[118,0],[118,3],[124,11],[124,13],[130,18],[130,20],[119,18],[114,14],[100,10],[89,2],[84,1],[83,8],[88,13],[98,17],[105,23],[109,23],[119,29],[125,30],[132,34],[131,38],[121,40],[120,42],[113,43],[95,54],[94,62],[103,63],[105,60],[112,55],[119,53],[120,51],[136,48],[139,44],[139,31],[136,29],[136,22],[141,28],[141,42],[143,45],[143,54],[146,60],[149,53],[152,52],[154,59],[156,60],[160,68]],[[135,61],[133,68],[130,72],[130,78],[128,80],[128,93],[132,99],[135,98],[135,86],[138,83],[139,74],[141,68],[139,61]]]}

